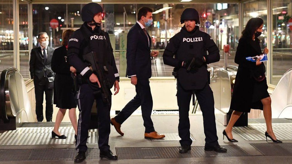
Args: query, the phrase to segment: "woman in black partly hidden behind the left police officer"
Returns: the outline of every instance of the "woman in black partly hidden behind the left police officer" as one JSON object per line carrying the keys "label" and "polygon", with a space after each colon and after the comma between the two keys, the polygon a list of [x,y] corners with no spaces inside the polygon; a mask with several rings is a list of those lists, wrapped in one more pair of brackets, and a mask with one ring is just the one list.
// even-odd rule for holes
{"label": "woman in black partly hidden behind the left police officer", "polygon": [[69,65],[66,60],[68,39],[74,30],[69,29],[62,34],[62,47],[55,49],[52,57],[52,70],[56,73],[54,80],[54,104],[59,108],[56,116],[52,138],[58,137],[66,139],[65,135],[59,132],[60,124],[65,116],[66,109],[69,109],[69,118],[77,134],[77,118],[76,118],[76,101],[73,94],[74,82],[71,77],[71,72],[75,73],[76,69]]}

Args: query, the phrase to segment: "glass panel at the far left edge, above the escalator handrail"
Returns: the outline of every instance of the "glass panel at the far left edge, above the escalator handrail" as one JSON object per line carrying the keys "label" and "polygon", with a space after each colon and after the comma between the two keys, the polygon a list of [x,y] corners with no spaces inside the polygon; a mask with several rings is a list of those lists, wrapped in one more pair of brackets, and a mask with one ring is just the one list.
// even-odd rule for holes
{"label": "glass panel at the far left edge, above the escalator handrail", "polygon": [[0,72],[13,67],[13,4],[0,1]]}

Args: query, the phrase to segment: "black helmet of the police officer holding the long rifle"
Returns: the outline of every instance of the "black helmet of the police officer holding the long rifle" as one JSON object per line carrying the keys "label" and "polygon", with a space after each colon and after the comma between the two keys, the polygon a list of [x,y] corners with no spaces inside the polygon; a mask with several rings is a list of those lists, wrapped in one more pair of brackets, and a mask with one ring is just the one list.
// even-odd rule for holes
{"label": "black helmet of the police officer holding the long rifle", "polygon": [[104,12],[101,5],[98,3],[89,3],[82,7],[81,18],[83,22],[90,22],[93,19],[93,16],[97,13]]}

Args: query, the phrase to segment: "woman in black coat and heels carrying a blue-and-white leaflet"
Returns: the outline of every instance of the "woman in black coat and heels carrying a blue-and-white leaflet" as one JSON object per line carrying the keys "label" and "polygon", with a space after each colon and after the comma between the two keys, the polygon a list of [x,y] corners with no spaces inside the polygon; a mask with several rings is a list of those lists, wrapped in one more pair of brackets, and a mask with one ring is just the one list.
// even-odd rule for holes
{"label": "woman in black coat and heels carrying a blue-and-white leaflet", "polygon": [[[241,39],[239,39],[235,54],[238,70],[230,105],[230,109],[234,111],[223,131],[223,137],[226,136],[231,142],[238,142],[232,137],[233,125],[243,112],[249,113],[251,108],[263,110],[267,126],[266,138],[269,137],[273,142],[282,142],[277,140],[272,129],[271,98],[267,92],[268,85],[264,74],[266,71],[264,63],[260,62],[259,59],[256,62],[246,60],[246,57],[262,54],[260,40],[257,37],[263,32],[263,26],[264,21],[261,18],[250,19],[242,31]],[[264,54],[268,52],[269,50],[265,47]]]}

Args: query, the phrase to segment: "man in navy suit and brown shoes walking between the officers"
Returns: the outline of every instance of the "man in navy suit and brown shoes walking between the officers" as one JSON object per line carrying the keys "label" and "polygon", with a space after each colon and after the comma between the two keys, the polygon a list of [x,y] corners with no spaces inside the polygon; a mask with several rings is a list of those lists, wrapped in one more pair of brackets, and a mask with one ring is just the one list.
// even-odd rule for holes
{"label": "man in navy suit and brown shoes walking between the officers", "polygon": [[[138,10],[138,21],[129,30],[127,35],[127,74],[131,78],[131,84],[136,87],[136,96],[111,119],[111,124],[122,136],[121,124],[141,106],[142,117],[145,126],[145,138],[160,139],[160,135],[154,130],[151,119],[153,107],[149,78],[151,77],[151,59],[158,56],[158,51],[150,51],[151,38],[146,31],[146,26],[152,24],[153,10],[149,7],[141,7]],[[151,59],[150,59],[151,58]]]}

